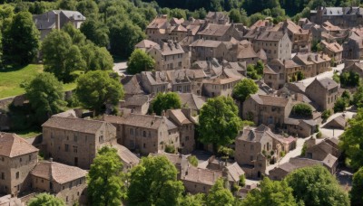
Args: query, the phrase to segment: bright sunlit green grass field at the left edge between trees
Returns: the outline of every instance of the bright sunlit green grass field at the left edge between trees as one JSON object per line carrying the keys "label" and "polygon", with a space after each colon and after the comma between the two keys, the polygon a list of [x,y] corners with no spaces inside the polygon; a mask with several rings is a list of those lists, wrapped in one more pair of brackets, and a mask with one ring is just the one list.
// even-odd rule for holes
{"label": "bright sunlit green grass field at the left edge between trees", "polygon": [[[0,70],[0,98],[9,98],[25,93],[20,84],[43,72],[42,64],[29,64],[24,68]],[[64,84],[64,90],[75,89],[76,84]]]}

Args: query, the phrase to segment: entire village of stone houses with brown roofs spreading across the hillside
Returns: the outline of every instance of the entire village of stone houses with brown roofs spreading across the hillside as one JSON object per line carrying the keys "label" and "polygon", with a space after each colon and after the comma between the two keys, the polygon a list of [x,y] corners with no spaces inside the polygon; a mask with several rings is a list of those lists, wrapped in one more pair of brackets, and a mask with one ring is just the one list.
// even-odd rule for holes
{"label": "entire village of stone houses with brown roofs spreading across the hillside", "polygon": [[[142,157],[165,156],[190,194],[208,193],[223,179],[243,200],[264,177],[281,181],[316,165],[349,191],[353,174],[344,166],[339,136],[358,113],[350,98],[363,78],[359,13],[359,7],[320,6],[297,23],[266,18],[249,27],[223,12],[203,19],[158,14],[146,26],[146,39],[134,45],[155,62],[152,70],[130,74],[126,63],[113,66],[124,92],[116,114],[107,105],[98,116],[72,108],[53,114],[42,134],[29,139],[3,125],[0,205],[22,205],[40,192],[66,205],[87,205],[87,173],[104,146],[117,150],[123,173]],[[79,29],[86,18],[54,10],[33,20],[42,40],[66,23]],[[249,80],[257,89],[236,98]],[[161,93],[174,93],[182,107],[157,111],[152,104]],[[218,146],[226,153],[201,131],[208,118],[201,116],[218,98],[232,99],[243,121],[232,141]]]}

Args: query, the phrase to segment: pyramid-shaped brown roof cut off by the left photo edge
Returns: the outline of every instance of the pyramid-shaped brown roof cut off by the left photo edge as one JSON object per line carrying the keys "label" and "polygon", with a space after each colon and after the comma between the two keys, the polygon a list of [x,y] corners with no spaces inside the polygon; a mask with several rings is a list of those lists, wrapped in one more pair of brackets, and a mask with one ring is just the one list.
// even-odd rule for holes
{"label": "pyramid-shaped brown roof cut off by the left photo edge", "polygon": [[0,132],[0,156],[15,157],[39,151],[14,133]]}

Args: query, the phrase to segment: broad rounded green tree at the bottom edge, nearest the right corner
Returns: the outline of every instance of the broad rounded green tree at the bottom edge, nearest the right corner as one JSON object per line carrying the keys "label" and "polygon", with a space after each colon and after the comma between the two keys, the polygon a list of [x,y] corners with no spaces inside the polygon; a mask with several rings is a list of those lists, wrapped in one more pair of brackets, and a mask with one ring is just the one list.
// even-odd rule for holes
{"label": "broad rounded green tree at the bottom edge, nearest the right corner", "polygon": [[343,192],[335,177],[319,165],[304,167],[289,173],[286,181],[297,201],[305,205],[349,205],[348,194]]}

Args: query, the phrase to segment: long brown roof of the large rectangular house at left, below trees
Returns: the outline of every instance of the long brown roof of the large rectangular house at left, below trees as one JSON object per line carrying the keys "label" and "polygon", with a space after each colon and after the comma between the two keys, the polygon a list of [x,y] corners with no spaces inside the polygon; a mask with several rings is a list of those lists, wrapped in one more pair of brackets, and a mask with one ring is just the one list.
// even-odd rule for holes
{"label": "long brown roof of the large rectangular house at left, below trees", "polygon": [[42,126],[95,134],[105,122],[73,117],[51,117]]}

